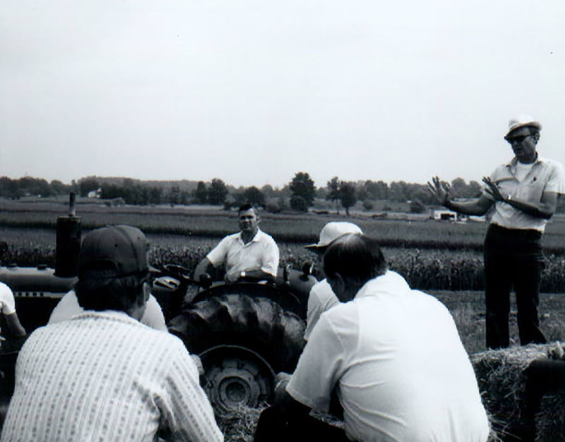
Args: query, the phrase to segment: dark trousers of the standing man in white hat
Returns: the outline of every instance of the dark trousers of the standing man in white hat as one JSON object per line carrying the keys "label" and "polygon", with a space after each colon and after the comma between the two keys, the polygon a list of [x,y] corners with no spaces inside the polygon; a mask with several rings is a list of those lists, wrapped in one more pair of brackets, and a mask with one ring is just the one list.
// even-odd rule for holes
{"label": "dark trousers of the standing man in white hat", "polygon": [[487,347],[509,346],[510,292],[516,292],[522,345],[546,342],[537,306],[544,260],[541,232],[490,225],[484,241]]}

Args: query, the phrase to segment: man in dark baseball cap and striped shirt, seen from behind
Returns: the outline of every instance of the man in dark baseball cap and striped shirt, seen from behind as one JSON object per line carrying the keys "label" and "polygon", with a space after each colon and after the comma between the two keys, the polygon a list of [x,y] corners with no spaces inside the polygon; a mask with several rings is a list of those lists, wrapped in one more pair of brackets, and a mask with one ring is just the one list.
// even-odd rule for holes
{"label": "man in dark baseball cap and striped shirt, seen from behind", "polygon": [[1,440],[223,441],[182,341],[139,323],[147,249],[136,227],[85,236],[76,285],[85,312],[23,345]]}

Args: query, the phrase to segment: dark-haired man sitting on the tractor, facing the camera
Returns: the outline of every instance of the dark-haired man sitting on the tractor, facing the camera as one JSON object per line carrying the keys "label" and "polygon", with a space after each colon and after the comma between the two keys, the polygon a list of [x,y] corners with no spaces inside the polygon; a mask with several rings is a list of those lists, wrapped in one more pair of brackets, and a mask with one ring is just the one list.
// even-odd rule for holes
{"label": "dark-haired man sitting on the tractor, facing the camera", "polygon": [[241,232],[228,235],[196,266],[194,279],[200,281],[211,267],[225,264],[226,282],[272,281],[277,276],[279,251],[275,240],[259,229],[258,209],[250,204],[239,208]]}

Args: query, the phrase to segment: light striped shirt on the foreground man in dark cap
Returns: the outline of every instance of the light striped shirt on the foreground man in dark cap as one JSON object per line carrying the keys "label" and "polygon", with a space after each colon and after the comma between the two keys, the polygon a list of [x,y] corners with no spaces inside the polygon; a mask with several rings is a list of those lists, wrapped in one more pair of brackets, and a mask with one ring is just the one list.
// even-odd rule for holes
{"label": "light striped shirt on the foreground man in dark cap", "polygon": [[223,441],[182,341],[118,311],[35,330],[16,365],[2,441]]}

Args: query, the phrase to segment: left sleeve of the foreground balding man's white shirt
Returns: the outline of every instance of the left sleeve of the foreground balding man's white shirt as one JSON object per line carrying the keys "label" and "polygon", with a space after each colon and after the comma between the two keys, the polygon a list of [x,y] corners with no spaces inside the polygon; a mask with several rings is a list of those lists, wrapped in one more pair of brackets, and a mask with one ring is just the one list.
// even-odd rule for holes
{"label": "left sleeve of the foreground balding man's white shirt", "polygon": [[345,348],[328,316],[320,317],[287,385],[292,398],[322,412],[328,411],[333,387],[345,371]]}

